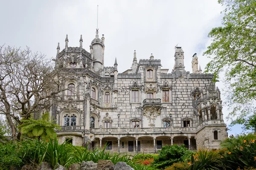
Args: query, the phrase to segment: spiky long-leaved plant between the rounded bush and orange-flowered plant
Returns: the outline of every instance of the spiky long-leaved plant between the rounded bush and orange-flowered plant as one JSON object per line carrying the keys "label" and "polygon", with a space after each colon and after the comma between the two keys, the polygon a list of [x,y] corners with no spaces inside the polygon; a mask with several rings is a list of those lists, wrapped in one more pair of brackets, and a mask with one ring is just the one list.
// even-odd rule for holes
{"label": "spiky long-leaved plant between the rounded bush and orange-flowered plant", "polygon": [[223,165],[218,151],[199,150],[191,155],[189,170],[221,170]]}

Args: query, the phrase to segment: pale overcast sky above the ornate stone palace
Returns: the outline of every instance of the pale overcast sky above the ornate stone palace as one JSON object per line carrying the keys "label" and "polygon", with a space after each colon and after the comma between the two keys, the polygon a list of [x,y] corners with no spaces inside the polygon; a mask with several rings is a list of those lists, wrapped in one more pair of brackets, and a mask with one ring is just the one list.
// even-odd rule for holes
{"label": "pale overcast sky above the ornate stone palace", "polygon": [[[83,48],[90,51],[97,4],[99,34],[105,35],[105,66],[113,66],[116,57],[119,73],[130,69],[136,50],[137,59],[149,59],[153,53],[170,73],[178,44],[184,51],[185,70],[192,72],[192,56],[197,53],[204,71],[209,62],[202,56],[210,44],[207,35],[221,26],[223,7],[218,0],[0,0],[0,45],[27,45],[54,58],[58,42],[64,48],[66,34],[71,47],[79,47],[82,34]],[[224,87],[221,80],[216,85]],[[226,117],[226,107],[223,113]],[[231,129],[229,135],[241,133],[240,126]]]}

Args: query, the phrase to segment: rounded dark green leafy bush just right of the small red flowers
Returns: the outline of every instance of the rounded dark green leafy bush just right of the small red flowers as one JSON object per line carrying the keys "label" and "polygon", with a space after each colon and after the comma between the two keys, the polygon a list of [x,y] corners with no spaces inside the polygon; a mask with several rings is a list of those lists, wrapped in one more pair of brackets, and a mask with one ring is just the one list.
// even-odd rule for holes
{"label": "rounded dark green leafy bush just right of the small red flowers", "polygon": [[192,151],[188,150],[184,145],[164,146],[162,150],[158,151],[159,155],[154,159],[154,167],[166,168],[175,162],[182,162],[189,159]]}

